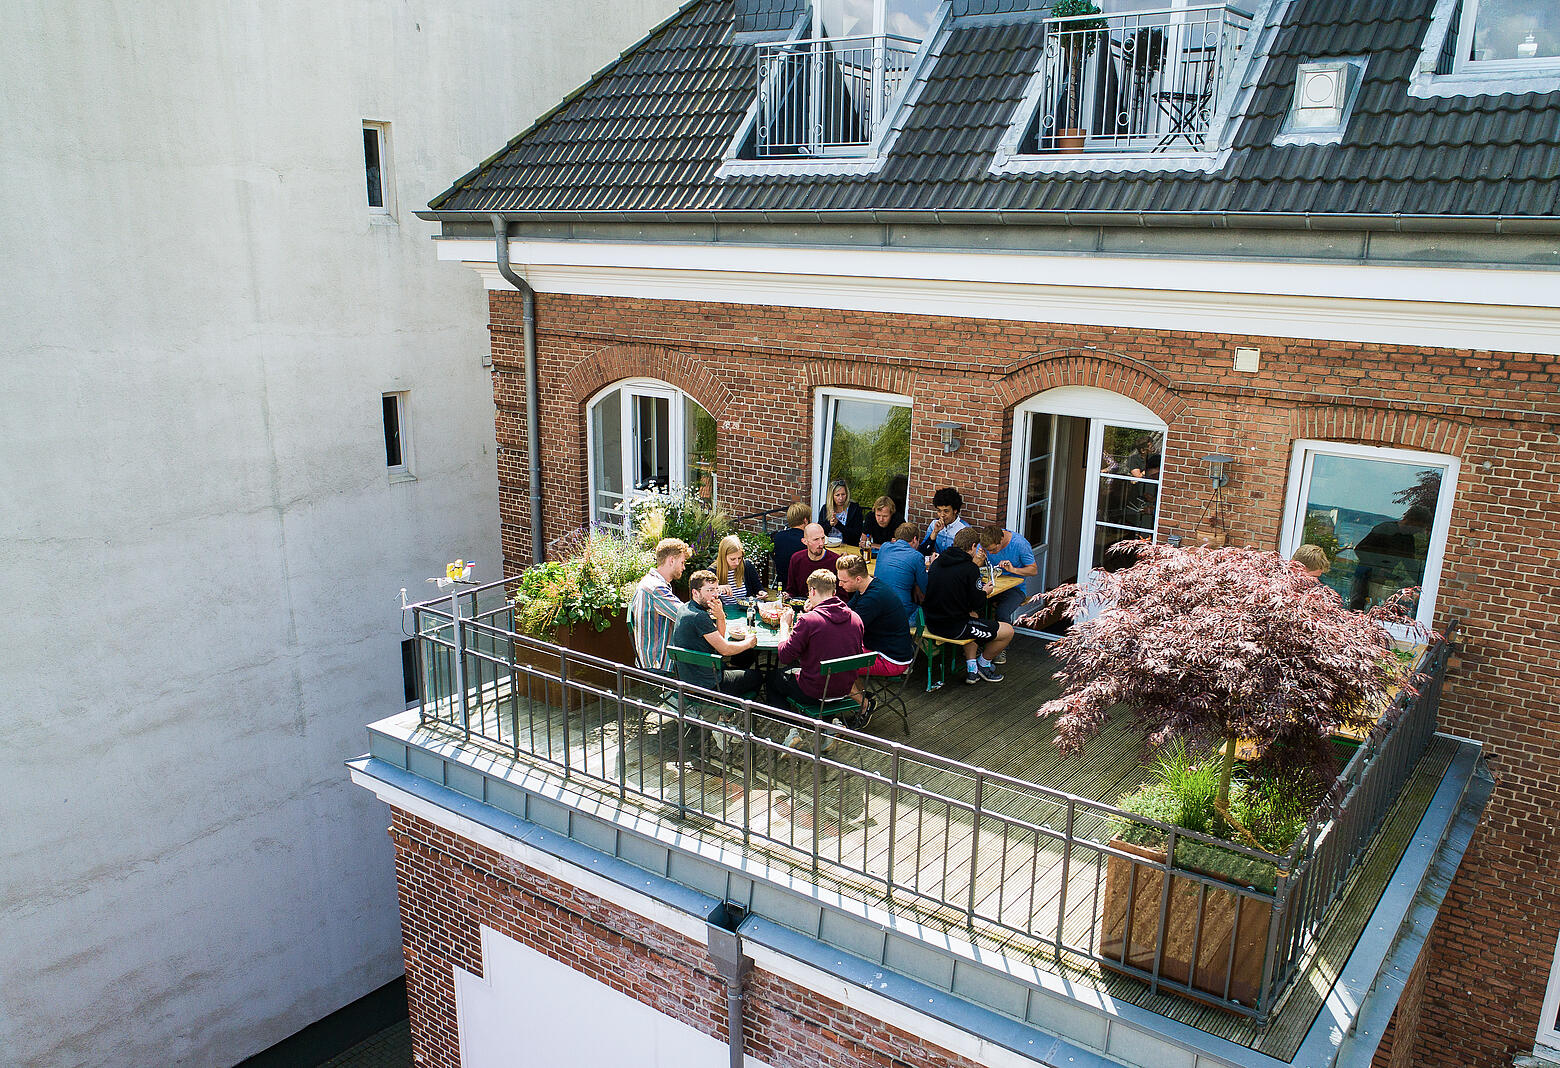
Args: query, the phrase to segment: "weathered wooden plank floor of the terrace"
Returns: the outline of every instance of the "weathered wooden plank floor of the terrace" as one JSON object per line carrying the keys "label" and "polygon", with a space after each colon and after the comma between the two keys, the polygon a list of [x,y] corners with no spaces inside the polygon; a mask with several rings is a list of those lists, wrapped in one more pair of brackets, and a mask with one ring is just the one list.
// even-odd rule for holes
{"label": "weathered wooden plank floor of the terrace", "polygon": [[[661,695],[649,688],[626,689],[638,702],[630,713],[640,713],[627,716],[604,694],[573,692],[565,730],[557,691],[534,686],[529,698],[510,700],[507,684],[496,686],[498,700],[476,709],[473,725],[576,780],[624,784],[626,803],[636,805],[641,817],[736,845],[1211,1034],[1276,1056],[1292,1052],[1321,1004],[1321,988],[1309,976],[1293,985],[1284,1021],[1257,1029],[1218,1009],[1153,995],[1078,951],[1097,945],[1103,887],[1103,859],[1087,840],[1108,840],[1111,825],[1087,805],[1069,814],[1045,790],[1111,805],[1145,780],[1150,751],[1129,716],[1117,713],[1081,753],[1062,756],[1051,722],[1034,714],[1058,689],[1045,649],[1039,641],[1017,642],[1002,683],[958,680],[928,694],[920,672],[908,691],[908,733],[897,716],[880,711],[866,731],[870,739],[810,733],[805,755],[783,744],[791,723],[763,717],[747,745],[714,744],[725,737],[719,727],[679,730],[674,717],[657,711]],[[714,711],[707,719],[719,722]],[[814,762],[811,747],[825,739],[830,745]],[[895,753],[874,739],[903,742],[925,756]],[[994,781],[991,773],[1006,778]],[[1434,770],[1424,784],[1432,780]],[[1073,840],[1084,842],[1070,850],[1061,845],[1069,817]],[[1390,865],[1385,872],[1353,893],[1374,901]],[[1351,912],[1362,921],[1368,909]],[[1309,971],[1335,973],[1357,935],[1324,937]]]}

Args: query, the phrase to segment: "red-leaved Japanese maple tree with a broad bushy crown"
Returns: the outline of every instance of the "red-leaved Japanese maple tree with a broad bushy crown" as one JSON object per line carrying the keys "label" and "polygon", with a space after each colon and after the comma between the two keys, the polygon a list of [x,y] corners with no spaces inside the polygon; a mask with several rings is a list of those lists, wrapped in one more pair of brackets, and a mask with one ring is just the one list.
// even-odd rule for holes
{"label": "red-leaved Japanese maple tree with a broad bushy crown", "polygon": [[1349,611],[1276,552],[1148,541],[1123,550],[1137,563],[1097,571],[1087,588],[1058,588],[1044,605],[1061,603],[1075,621],[1051,645],[1062,694],[1039,709],[1059,716],[1062,751],[1126,705],[1156,747],[1176,737],[1221,745],[1217,808],[1229,819],[1239,739],[1320,759],[1335,728],[1368,730],[1392,686],[1409,684],[1382,627],[1407,622],[1396,602]]}

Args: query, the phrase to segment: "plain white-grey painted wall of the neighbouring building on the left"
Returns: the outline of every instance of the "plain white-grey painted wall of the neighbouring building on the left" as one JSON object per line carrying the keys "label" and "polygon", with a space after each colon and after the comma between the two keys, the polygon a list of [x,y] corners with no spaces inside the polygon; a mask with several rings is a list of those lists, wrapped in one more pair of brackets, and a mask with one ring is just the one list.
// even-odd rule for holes
{"label": "plain white-grey painted wall of the neighbouring building on the left", "polygon": [[401,971],[342,759],[398,589],[499,561],[485,293],[412,210],[674,8],[6,2],[0,1062],[231,1065]]}

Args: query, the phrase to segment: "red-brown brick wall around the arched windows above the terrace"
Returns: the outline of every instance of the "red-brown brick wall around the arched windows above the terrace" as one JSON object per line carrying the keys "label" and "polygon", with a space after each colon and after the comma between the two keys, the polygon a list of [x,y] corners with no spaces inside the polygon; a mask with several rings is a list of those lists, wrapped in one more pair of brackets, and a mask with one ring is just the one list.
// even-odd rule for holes
{"label": "red-brown brick wall around the arched windows above the terrace", "polygon": [[[529,560],[519,296],[491,293],[493,388],[505,566]],[[1232,370],[1262,351],[1259,374]],[[1098,385],[1170,427],[1162,533],[1207,505],[1197,458],[1239,457],[1231,538],[1278,541],[1293,441],[1323,438],[1462,460],[1438,602],[1460,619],[1462,667],[1445,727],[1488,744],[1498,789],[1431,946],[1418,1063],[1501,1063],[1533,1041],[1560,931],[1551,876],[1560,803],[1560,363],[1554,357],[819,312],[629,298],[538,298],[546,536],[587,518],[585,405],[612,382],[652,377],[718,421],[722,504],[753,511],[810,494],[817,387],[913,398],[909,518],[941,485],[970,521],[1006,518],[1012,407],[1058,385]],[[944,455],[934,423],[963,424]],[[1401,1041],[1399,1041],[1401,1048]]]}

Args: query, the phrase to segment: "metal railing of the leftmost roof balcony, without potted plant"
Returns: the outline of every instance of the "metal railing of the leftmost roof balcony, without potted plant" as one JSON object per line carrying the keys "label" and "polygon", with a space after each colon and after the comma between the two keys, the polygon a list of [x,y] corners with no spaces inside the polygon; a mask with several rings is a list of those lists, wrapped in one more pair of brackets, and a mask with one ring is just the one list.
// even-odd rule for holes
{"label": "metal railing of the leftmost roof balcony, without potted plant", "polygon": [[758,45],[758,154],[864,154],[917,47],[892,34]]}

